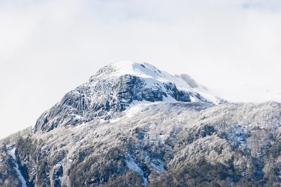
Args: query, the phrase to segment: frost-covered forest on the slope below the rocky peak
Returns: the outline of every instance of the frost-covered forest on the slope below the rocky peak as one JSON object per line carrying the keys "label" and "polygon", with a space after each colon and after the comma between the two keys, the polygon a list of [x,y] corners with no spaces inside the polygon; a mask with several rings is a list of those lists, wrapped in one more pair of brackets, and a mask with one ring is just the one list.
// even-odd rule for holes
{"label": "frost-covered forest on the slope below the rocky peak", "polygon": [[276,102],[150,103],[114,120],[28,129],[2,140],[0,177],[18,181],[5,153],[15,144],[28,186],[280,186],[280,112]]}

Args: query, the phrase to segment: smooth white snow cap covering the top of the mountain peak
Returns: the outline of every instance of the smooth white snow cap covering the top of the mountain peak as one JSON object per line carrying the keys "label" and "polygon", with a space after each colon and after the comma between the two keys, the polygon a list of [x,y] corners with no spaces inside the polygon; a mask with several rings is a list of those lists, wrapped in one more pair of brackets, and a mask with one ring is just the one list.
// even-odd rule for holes
{"label": "smooth white snow cap covering the top of the mountain peak", "polygon": [[[104,70],[103,70],[104,69]],[[103,70],[103,71],[101,71]],[[194,95],[190,95],[191,101],[199,101],[195,96],[199,93],[202,97],[208,101],[219,104],[221,98],[213,96],[212,94],[206,93],[205,87],[199,84],[198,88],[192,88],[184,79],[180,76],[173,76],[165,71],[157,69],[155,66],[150,65],[146,62],[134,62],[134,61],[119,61],[111,63],[104,68],[102,68],[98,74],[95,75],[96,78],[107,79],[110,77],[122,76],[125,74],[135,75],[143,79],[147,87],[155,88],[161,87],[163,83],[171,82],[174,83],[177,89],[191,92]],[[163,87],[161,87],[163,88]],[[176,101],[174,98],[168,98],[167,101]]]}

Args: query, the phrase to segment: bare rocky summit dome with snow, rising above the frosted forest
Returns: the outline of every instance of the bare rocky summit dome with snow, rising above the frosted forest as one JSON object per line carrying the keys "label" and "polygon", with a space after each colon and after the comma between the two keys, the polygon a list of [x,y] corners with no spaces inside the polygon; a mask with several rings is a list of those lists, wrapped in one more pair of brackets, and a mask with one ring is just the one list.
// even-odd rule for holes
{"label": "bare rocky summit dome with snow, rising above the frosted forest", "polygon": [[35,132],[50,131],[63,123],[81,124],[95,117],[120,117],[123,114],[121,112],[134,104],[134,101],[201,101],[215,105],[226,102],[194,86],[198,87],[189,75],[172,76],[148,63],[111,63],[43,113],[36,122]]}

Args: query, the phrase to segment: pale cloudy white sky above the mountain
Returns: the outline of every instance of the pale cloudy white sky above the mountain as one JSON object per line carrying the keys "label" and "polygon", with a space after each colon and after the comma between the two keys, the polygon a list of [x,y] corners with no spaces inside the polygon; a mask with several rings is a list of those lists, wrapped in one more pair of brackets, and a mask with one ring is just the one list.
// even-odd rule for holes
{"label": "pale cloudy white sky above the mountain", "polygon": [[280,33],[277,0],[0,0],[0,138],[121,60],[229,101],[281,102]]}

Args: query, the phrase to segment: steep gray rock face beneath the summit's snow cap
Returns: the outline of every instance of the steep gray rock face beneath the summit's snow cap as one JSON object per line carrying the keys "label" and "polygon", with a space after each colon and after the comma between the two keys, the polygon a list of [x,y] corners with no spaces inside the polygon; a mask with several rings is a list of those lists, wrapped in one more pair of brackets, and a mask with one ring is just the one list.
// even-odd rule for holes
{"label": "steep gray rock face beneath the summit's snow cap", "polygon": [[[67,93],[61,102],[38,118],[35,132],[48,132],[59,124],[81,124],[91,121],[94,117],[118,117],[133,100],[155,102],[170,95],[177,101],[190,102],[189,93],[178,90],[172,83],[164,84],[168,91],[166,93],[161,88],[145,88],[145,82],[132,75],[124,75],[111,81],[96,81],[94,86],[84,84]],[[206,101],[202,97],[199,98]]]}

